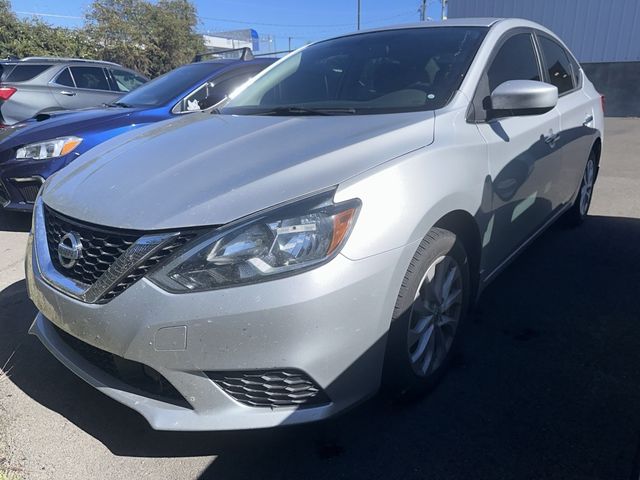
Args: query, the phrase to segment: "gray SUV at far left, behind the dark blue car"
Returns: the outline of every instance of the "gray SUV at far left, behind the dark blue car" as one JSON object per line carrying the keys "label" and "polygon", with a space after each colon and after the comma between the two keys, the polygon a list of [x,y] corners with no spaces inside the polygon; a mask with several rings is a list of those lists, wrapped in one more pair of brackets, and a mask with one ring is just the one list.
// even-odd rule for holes
{"label": "gray SUV at far left, behind the dark blue car", "polygon": [[0,124],[116,101],[147,78],[116,63],[29,57],[3,65]]}

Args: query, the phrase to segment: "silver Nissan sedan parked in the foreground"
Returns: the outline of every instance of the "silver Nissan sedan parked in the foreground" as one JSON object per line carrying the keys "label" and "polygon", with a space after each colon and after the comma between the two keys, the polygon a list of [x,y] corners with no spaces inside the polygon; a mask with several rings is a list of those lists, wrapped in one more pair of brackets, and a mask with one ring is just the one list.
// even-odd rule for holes
{"label": "silver Nissan sedan parked in the foreground", "polygon": [[422,393],[483,288],[553,222],[585,220],[602,136],[601,96],[535,23],[315,43],[46,182],[31,332],[162,430]]}

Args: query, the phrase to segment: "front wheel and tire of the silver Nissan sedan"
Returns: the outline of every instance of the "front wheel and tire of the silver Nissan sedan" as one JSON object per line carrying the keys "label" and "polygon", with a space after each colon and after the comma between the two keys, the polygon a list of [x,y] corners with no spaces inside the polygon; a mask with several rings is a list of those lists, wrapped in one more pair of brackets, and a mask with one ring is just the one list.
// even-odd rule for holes
{"label": "front wheel and tire of the silver Nissan sedan", "polygon": [[440,380],[469,309],[470,291],[462,242],[453,232],[431,229],[409,264],[394,308],[383,372],[388,394],[420,396]]}

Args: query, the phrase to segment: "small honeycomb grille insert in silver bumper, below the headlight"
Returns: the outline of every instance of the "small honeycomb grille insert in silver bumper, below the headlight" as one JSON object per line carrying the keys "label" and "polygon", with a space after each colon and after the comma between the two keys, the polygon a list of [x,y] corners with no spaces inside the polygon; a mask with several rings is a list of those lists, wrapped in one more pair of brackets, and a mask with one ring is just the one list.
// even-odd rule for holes
{"label": "small honeycomb grille insert in silver bumper, below the headlight", "polygon": [[329,403],[324,391],[299,370],[207,372],[225,393],[252,407],[311,407]]}

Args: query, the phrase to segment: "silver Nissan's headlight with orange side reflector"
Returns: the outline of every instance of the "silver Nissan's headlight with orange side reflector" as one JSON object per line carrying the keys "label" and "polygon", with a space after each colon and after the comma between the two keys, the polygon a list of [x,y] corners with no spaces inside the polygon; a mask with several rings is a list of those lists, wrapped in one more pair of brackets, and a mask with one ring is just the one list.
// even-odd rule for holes
{"label": "silver Nissan's headlight with orange side reflector", "polygon": [[261,212],[202,237],[151,274],[174,293],[293,275],[333,258],[354,225],[360,200],[335,204],[333,191]]}

